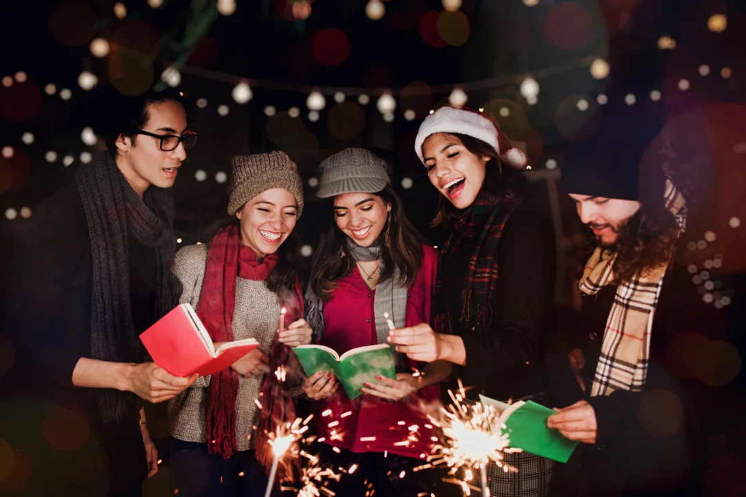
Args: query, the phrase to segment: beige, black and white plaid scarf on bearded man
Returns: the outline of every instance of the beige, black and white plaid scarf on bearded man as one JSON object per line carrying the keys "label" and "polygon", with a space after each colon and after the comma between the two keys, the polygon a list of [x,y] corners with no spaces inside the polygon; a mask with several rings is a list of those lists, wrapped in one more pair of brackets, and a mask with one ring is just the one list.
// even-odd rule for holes
{"label": "beige, black and white plaid scarf on bearded man", "polygon": [[[686,229],[686,206],[671,178],[665,180],[665,207],[676,218],[679,233]],[[596,247],[578,285],[584,294],[595,295],[614,282],[616,253]],[[645,387],[650,359],[653,315],[667,265],[638,273],[618,286],[606,320],[601,356],[598,358],[591,396],[614,390],[638,392]]]}

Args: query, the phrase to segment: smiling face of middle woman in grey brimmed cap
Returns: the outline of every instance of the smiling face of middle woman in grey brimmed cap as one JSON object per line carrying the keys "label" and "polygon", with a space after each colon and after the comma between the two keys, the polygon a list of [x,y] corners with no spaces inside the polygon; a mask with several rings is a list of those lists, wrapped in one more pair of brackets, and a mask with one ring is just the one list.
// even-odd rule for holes
{"label": "smiling face of middle woman in grey brimmed cap", "polygon": [[370,247],[386,227],[391,205],[372,193],[345,193],[334,197],[334,221],[360,247]]}

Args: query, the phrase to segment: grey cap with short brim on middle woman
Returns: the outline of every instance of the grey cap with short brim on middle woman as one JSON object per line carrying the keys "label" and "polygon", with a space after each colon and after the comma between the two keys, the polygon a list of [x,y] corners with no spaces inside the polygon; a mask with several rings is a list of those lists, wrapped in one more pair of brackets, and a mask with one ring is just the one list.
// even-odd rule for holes
{"label": "grey cap with short brim on middle woman", "polygon": [[321,163],[322,179],[316,197],[381,191],[389,183],[388,166],[365,148],[345,148]]}

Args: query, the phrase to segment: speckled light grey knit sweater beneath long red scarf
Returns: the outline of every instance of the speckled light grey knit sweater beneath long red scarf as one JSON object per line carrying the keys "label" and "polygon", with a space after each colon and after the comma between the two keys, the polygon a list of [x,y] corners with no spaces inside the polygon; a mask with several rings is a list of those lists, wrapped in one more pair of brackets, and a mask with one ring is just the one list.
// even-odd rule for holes
{"label": "speckled light grey knit sweater beneath long red scarf", "polygon": [[[174,273],[184,285],[180,303],[190,303],[197,309],[207,262],[206,245],[190,245],[179,250]],[[278,295],[266,288],[263,281],[236,279],[236,307],[233,311],[233,338],[255,338],[262,352],[269,354],[280,321]],[[236,443],[239,450],[254,448],[262,376],[246,378],[239,375],[236,399]],[[198,379],[192,387],[169,402],[170,429],[173,437],[187,442],[204,442],[204,402],[210,376]]]}

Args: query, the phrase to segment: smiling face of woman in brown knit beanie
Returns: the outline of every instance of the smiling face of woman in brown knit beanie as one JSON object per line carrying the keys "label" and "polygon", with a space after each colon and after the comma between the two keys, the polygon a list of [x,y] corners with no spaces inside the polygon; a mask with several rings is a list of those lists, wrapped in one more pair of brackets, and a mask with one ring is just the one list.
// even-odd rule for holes
{"label": "smiling face of woman in brown knit beanie", "polygon": [[241,241],[257,257],[277,252],[295,228],[298,206],[283,188],[263,191],[236,212],[241,224]]}

